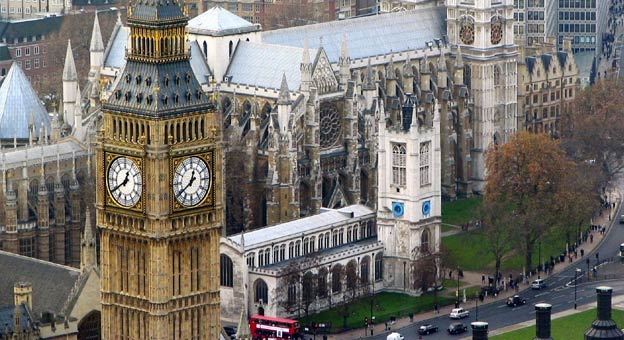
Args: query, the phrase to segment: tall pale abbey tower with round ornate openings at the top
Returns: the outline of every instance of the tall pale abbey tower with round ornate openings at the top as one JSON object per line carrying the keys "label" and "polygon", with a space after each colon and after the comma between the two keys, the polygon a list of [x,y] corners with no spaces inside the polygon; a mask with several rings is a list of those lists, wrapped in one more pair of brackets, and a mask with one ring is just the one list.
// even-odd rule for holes
{"label": "tall pale abbey tower with round ornate openings at the top", "polygon": [[482,191],[487,176],[485,152],[492,143],[505,143],[517,129],[513,1],[447,0],[446,5],[449,41],[461,48],[464,83],[474,100],[472,146],[465,151],[470,157],[459,157],[471,162],[464,166],[472,169],[472,189]]}

